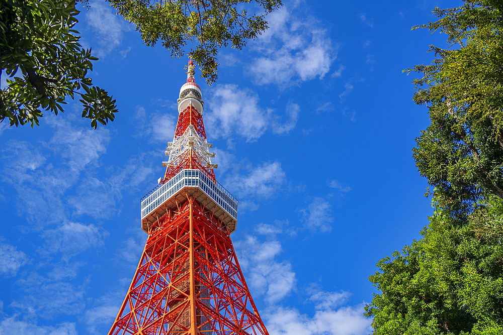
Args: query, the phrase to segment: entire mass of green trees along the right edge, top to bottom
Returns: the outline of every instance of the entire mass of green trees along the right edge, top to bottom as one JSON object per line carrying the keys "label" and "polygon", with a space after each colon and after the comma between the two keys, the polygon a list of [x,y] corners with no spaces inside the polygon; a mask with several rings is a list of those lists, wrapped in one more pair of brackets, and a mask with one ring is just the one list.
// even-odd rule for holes
{"label": "entire mass of green trees along the right edge, top to bottom", "polygon": [[[413,27],[447,34],[417,65],[414,101],[431,125],[413,157],[434,187],[423,238],[385,257],[369,279],[374,335],[503,333],[503,2],[465,0]],[[427,195],[431,193],[428,192]]]}

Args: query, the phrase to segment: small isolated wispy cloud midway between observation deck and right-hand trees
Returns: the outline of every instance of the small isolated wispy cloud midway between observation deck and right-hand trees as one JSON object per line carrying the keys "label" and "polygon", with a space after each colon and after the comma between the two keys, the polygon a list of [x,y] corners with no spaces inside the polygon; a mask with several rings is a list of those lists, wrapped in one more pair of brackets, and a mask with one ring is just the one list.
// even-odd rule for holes
{"label": "small isolated wispy cloud midway between observation deck and right-hand trees", "polygon": [[333,217],[330,215],[331,205],[323,198],[315,197],[307,208],[299,209],[304,226],[312,232],[329,232]]}

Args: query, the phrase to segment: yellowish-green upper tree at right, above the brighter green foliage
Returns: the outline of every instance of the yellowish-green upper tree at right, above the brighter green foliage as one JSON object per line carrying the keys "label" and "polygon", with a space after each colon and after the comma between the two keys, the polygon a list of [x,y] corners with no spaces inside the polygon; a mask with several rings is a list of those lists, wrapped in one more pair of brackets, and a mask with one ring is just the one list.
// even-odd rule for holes
{"label": "yellowish-green upper tree at right, above the brighter green foliage", "polygon": [[[434,13],[416,28],[448,34],[452,50],[431,46],[438,58],[413,69],[414,100],[430,108],[431,126],[416,139],[416,165],[442,194],[444,205],[503,198],[503,15],[501,1],[465,0]],[[426,86],[426,88],[423,88]]]}

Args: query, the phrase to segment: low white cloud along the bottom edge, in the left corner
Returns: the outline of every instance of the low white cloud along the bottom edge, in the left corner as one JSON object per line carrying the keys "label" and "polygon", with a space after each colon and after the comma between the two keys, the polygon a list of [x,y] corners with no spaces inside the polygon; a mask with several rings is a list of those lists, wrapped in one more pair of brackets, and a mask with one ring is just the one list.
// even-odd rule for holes
{"label": "low white cloud along the bottom edge, in the left corner", "polygon": [[38,326],[33,322],[16,320],[15,316],[0,322],[0,334],[10,335],[77,335],[75,323],[63,322],[55,326]]}

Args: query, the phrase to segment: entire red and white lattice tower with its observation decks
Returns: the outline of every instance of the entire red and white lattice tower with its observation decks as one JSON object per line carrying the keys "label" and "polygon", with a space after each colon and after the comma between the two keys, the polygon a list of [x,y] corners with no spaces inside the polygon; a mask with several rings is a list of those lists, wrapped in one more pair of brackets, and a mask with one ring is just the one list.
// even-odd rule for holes
{"label": "entire red and white lattice tower with its observation decks", "polygon": [[216,180],[189,60],[158,185],[141,199],[145,248],[109,335],[269,335],[230,234],[238,201]]}

